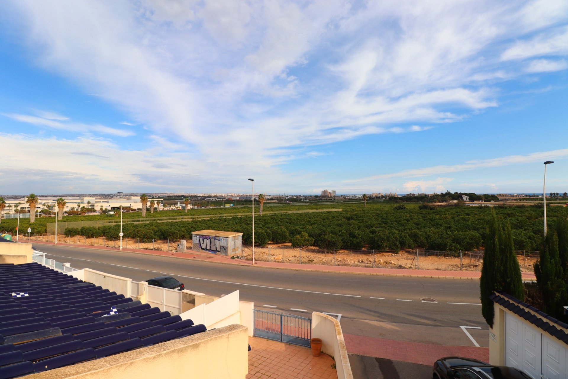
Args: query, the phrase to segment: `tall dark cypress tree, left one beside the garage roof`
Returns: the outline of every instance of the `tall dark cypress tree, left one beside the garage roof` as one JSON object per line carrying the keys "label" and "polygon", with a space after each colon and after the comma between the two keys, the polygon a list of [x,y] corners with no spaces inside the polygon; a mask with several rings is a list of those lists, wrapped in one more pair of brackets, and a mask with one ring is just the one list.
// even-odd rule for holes
{"label": "tall dark cypress tree, left one beside the garage roof", "polygon": [[524,300],[525,290],[521,268],[513,245],[511,226],[507,223],[503,230],[494,210],[491,210],[491,219],[487,227],[479,288],[481,290],[481,313],[490,327],[493,327],[495,312],[493,301],[489,296],[495,290],[504,291]]}

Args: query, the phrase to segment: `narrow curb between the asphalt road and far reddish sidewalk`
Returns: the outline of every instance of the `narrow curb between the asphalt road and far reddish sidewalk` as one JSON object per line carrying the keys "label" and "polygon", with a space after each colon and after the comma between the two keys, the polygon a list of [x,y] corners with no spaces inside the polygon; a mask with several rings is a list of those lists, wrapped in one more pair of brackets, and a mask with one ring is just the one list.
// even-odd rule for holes
{"label": "narrow curb between the asphalt road and far reddish sidewalk", "polygon": [[[39,243],[44,245],[53,245],[56,246],[55,243],[47,242],[47,241],[28,241],[30,243]],[[65,247],[78,247],[84,249],[101,249],[101,250],[108,250],[108,251],[120,251],[117,248],[111,247],[102,247],[102,246],[94,246],[94,245],[77,245],[77,244],[67,244],[62,243],[58,244]],[[142,249],[140,249],[142,250]],[[184,260],[193,260],[199,262],[206,262],[206,263],[215,263],[215,264],[227,264],[227,265],[236,265],[242,267],[261,267],[266,269],[277,269],[277,270],[291,270],[291,271],[307,271],[307,272],[324,272],[324,273],[333,273],[333,274],[352,274],[352,275],[374,275],[374,276],[396,276],[396,277],[413,277],[413,278],[432,278],[432,279],[461,279],[461,280],[479,280],[476,277],[464,277],[464,276],[442,276],[442,275],[423,275],[423,274],[392,274],[392,273],[382,273],[382,272],[352,272],[352,271],[338,271],[338,270],[322,270],[322,269],[311,269],[311,268],[292,268],[292,267],[273,267],[273,266],[253,266],[252,264],[244,264],[244,263],[232,263],[232,262],[219,262],[219,261],[211,261],[207,259],[199,259],[199,258],[189,258],[189,257],[177,257],[173,255],[162,255],[153,253],[152,250],[144,251],[136,251],[136,249],[122,249],[122,252],[126,253],[134,253],[134,254],[145,254],[145,255],[154,255],[154,256],[163,256],[175,259],[184,259]],[[194,252],[194,254],[201,255],[201,253]],[[435,271],[435,270],[432,270]],[[524,281],[534,281],[534,278],[523,278]]]}

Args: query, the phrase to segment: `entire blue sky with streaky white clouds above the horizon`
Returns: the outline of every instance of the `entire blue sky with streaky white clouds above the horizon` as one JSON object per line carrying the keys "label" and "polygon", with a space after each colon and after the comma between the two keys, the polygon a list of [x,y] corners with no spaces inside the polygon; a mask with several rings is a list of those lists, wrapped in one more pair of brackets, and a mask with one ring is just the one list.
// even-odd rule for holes
{"label": "entire blue sky with streaky white clouds above the horizon", "polygon": [[568,191],[568,2],[0,3],[0,193]]}

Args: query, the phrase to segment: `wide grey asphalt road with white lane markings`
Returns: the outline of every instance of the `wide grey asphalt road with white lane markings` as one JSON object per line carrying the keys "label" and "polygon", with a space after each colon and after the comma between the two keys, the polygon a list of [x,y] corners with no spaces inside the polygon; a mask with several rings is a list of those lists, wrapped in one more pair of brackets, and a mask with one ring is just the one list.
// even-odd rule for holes
{"label": "wide grey asphalt road with white lane markings", "polygon": [[[479,281],[278,270],[140,253],[37,244],[47,257],[141,281],[168,274],[186,289],[220,296],[239,290],[256,308],[341,315],[349,334],[444,345],[488,346]],[[435,302],[432,302],[435,301]]]}

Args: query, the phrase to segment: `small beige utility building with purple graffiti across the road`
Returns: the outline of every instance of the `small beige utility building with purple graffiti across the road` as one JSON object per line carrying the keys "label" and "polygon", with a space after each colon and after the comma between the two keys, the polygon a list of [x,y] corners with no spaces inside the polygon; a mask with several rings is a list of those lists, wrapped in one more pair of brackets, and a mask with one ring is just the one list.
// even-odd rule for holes
{"label": "small beige utility building with purple graffiti across the road", "polygon": [[243,253],[243,234],[218,230],[200,230],[191,233],[193,251],[204,251],[219,255],[241,255]]}

